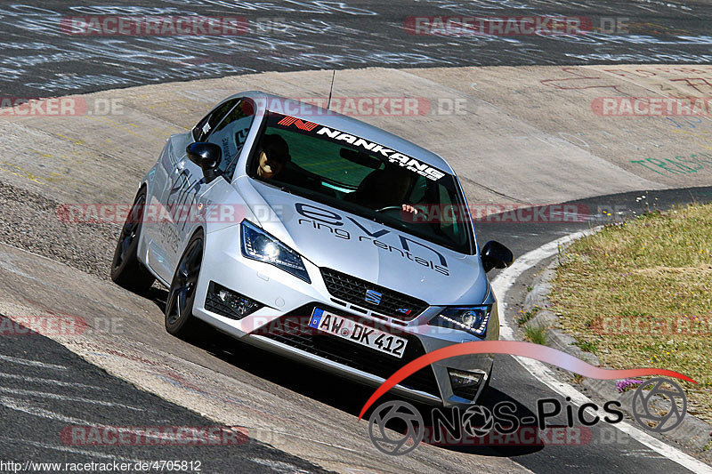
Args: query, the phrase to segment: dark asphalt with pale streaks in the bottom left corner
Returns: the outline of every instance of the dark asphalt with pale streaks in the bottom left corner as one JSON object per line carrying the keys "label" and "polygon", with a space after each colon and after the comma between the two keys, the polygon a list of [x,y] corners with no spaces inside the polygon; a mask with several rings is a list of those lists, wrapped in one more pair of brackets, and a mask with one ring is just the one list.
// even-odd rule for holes
{"label": "dark asphalt with pale streaks in the bottom left corner", "polygon": [[[130,383],[109,376],[45,337],[36,334],[4,337],[1,351],[0,460],[21,462],[22,471],[52,469],[46,466],[26,469],[24,462],[28,460],[61,462],[62,472],[71,470],[65,462],[118,462],[134,467],[136,462],[172,460],[192,462],[204,472],[326,472],[239,434],[234,438],[197,438],[195,446],[178,446],[166,437],[166,430],[175,431],[178,427],[227,430],[228,427],[217,426],[185,408],[136,390]],[[71,427],[102,425],[142,427],[146,433],[148,427],[155,427],[165,436],[135,438],[136,446],[127,449],[126,446],[85,445],[81,439],[98,438],[93,438],[88,430],[82,431],[86,438],[83,435],[72,438],[68,431]],[[65,436],[59,442],[62,432]],[[95,433],[101,433],[100,436],[107,433],[107,439],[111,437],[109,431]],[[200,446],[203,441],[206,445]],[[5,469],[8,468],[0,470]]]}

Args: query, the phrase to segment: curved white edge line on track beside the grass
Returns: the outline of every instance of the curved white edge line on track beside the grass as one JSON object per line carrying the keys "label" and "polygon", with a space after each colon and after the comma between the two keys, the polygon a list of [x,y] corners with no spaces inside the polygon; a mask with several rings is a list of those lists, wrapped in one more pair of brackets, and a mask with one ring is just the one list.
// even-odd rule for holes
{"label": "curved white edge line on track beside the grass", "polygon": [[[514,340],[514,331],[512,327],[506,321],[505,310],[506,310],[506,292],[512,288],[516,279],[522,275],[522,273],[532,267],[534,267],[538,262],[551,257],[558,252],[559,245],[570,242],[571,240],[583,237],[587,234],[594,232],[595,229],[584,230],[581,232],[576,232],[565,237],[558,238],[548,244],[542,245],[537,249],[532,250],[529,253],[523,254],[519,257],[514,264],[508,269],[502,270],[494,280],[492,280],[492,288],[498,295],[499,301],[501,302],[501,315],[499,318],[500,333],[503,339]],[[514,360],[519,362],[530,374],[534,375],[539,382],[544,383],[551,390],[562,395],[562,397],[570,397],[571,401],[580,406],[583,403],[590,402],[590,398],[582,394],[578,390],[571,387],[568,383],[559,382],[554,374],[546,367],[543,363],[538,360],[531,358],[520,358],[514,357]],[[667,459],[673,462],[677,462],[684,468],[692,470],[692,472],[697,473],[708,473],[712,474],[712,468],[710,468],[704,462],[700,462],[690,456],[689,454],[684,454],[679,449],[673,446],[669,446],[658,438],[653,438],[649,434],[638,430],[633,425],[627,422],[619,422],[612,425],[618,430],[623,431],[631,438],[634,438],[639,443],[644,446],[648,446],[651,450],[656,453],[662,454]]]}

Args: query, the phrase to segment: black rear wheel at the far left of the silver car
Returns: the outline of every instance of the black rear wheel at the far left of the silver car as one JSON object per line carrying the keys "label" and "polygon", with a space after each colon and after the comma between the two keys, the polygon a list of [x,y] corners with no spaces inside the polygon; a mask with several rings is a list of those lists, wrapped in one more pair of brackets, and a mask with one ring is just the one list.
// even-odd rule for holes
{"label": "black rear wheel at the far left of the silver car", "polygon": [[156,281],[156,278],[139,261],[137,254],[145,205],[146,189],[142,188],[134,199],[131,212],[126,216],[111,261],[111,279],[114,283],[136,293],[148,291],[150,285]]}

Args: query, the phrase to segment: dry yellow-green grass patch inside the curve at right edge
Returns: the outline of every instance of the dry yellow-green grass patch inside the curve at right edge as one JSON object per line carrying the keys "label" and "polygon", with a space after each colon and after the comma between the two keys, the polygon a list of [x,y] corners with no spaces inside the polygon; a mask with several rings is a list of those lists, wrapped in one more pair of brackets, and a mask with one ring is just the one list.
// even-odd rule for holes
{"label": "dry yellow-green grass patch inside the curve at right edge", "polygon": [[559,262],[550,309],[578,347],[603,366],[691,376],[692,411],[712,422],[712,205],[606,226]]}

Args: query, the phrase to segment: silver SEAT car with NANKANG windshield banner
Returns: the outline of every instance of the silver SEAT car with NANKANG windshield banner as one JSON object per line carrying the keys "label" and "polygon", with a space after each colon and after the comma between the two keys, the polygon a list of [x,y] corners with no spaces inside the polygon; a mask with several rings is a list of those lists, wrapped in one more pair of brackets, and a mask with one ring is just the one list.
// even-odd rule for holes
{"label": "silver SEAT car with NANKANG windshield banner", "polygon": [[[166,330],[199,320],[263,349],[377,386],[409,361],[497,340],[481,249],[452,168],[374,126],[263,92],[223,100],[172,135],[139,187],[111,277],[169,288]],[[394,392],[474,403],[489,355],[411,375]]]}

